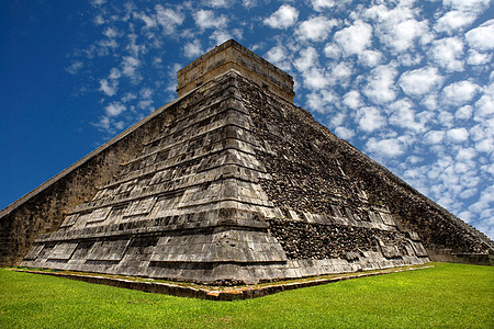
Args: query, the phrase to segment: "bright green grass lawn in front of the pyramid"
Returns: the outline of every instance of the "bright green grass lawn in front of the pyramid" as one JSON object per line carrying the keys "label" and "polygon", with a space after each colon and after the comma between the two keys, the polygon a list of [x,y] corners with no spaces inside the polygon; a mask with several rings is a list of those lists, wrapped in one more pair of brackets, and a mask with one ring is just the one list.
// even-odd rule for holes
{"label": "bright green grass lawn in front of the pyramid", "polygon": [[236,302],[0,269],[0,328],[494,328],[494,268],[435,265]]}

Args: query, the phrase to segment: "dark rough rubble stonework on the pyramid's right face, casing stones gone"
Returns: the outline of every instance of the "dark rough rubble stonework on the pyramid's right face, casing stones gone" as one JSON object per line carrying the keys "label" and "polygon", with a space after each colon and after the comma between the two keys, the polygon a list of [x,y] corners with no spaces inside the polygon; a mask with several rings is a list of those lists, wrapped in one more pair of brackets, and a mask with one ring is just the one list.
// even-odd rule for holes
{"label": "dark rough rubble stonework on the pyramid's right face, casing stones gone", "polygon": [[[255,124],[254,135],[262,141],[263,150],[258,150],[256,157],[271,173],[271,179],[260,180],[263,191],[285,214],[284,218],[308,223],[303,227],[272,224],[276,228],[271,231],[289,258],[322,258],[326,242],[338,245],[329,237],[345,246],[333,252],[361,249],[359,230],[343,232],[341,223],[407,232],[418,257],[428,254],[437,261],[459,262],[456,253],[487,254],[494,250],[485,235],[337,138],[305,110],[267,95],[245,79],[238,87]],[[323,229],[321,224],[339,225],[334,227],[337,234]],[[307,236],[317,237],[322,230],[324,243],[316,242],[317,238],[306,242]],[[382,242],[375,239],[379,235],[369,236],[373,249]],[[427,251],[414,242],[420,239]],[[317,248],[312,247],[314,243]],[[404,245],[398,246],[403,249]],[[470,259],[476,262],[474,257]],[[462,260],[468,262],[465,256]]]}

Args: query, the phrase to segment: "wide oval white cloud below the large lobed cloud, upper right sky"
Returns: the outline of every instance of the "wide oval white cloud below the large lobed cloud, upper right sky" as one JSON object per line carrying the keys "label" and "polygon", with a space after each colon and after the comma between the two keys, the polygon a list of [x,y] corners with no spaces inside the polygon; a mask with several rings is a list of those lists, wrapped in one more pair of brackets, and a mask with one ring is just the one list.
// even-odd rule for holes
{"label": "wide oval white cloud below the large lobed cloud, upper right sky", "polygon": [[424,67],[404,72],[398,84],[406,94],[418,97],[440,88],[444,80],[437,68]]}

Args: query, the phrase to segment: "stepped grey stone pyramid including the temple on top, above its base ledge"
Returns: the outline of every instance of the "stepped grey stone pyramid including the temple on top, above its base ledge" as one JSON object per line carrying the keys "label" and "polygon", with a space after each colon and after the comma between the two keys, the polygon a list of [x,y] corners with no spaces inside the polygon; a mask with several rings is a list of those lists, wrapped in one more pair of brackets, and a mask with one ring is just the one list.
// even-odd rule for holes
{"label": "stepped grey stone pyramid including the temple on top, above its base ledge", "polygon": [[3,264],[251,284],[492,250],[235,41],[177,76],[176,101],[0,213]]}

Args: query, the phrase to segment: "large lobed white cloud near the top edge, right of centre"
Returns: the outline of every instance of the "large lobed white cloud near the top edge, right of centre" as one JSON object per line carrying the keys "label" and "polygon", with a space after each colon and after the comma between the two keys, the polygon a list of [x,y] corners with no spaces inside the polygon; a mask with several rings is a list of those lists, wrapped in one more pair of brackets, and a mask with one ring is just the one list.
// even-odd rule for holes
{"label": "large lobed white cloud near the top edge, right of centre", "polygon": [[393,53],[403,53],[414,47],[415,41],[428,36],[426,21],[415,19],[415,10],[407,5],[388,9],[383,4],[369,8],[363,16],[375,21],[375,34]]}

